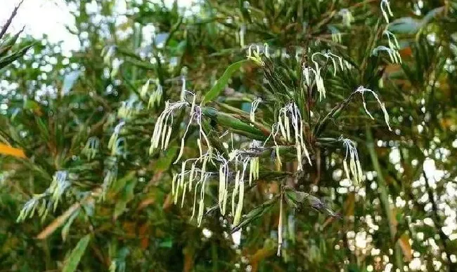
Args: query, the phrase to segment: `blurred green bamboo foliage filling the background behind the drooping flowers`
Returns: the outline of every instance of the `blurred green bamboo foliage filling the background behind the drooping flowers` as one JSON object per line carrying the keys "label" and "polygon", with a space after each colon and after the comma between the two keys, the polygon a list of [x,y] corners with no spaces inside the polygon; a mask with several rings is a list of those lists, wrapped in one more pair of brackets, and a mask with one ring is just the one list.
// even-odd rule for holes
{"label": "blurred green bamboo foliage filling the background behind the drooping flowers", "polygon": [[[456,271],[455,1],[391,1],[387,29],[402,63],[373,54],[387,46],[378,0],[207,0],[187,8],[179,1],[65,1],[80,50],[62,52],[46,37],[0,35],[1,271]],[[269,45],[266,65],[242,62],[219,79],[253,43]],[[327,97],[319,100],[304,93],[302,64],[323,50],[352,69],[324,71]],[[153,107],[141,94],[148,79],[148,92],[162,86]],[[226,86],[206,105],[249,123],[251,102],[262,97],[259,128],[269,130],[278,109],[295,101],[313,161],[297,172],[288,149],[281,169],[272,156],[262,158],[238,236],[230,234],[231,217],[210,209],[217,182],[207,189],[200,227],[190,218],[190,197],[182,208],[173,204],[184,114],[175,114],[169,149],[148,154],[165,101],[179,100],[185,82],[200,102],[217,79]],[[343,102],[358,86],[380,95],[392,131],[375,100],[366,97],[375,120],[360,96]],[[216,146],[226,130],[237,148],[268,136],[211,116],[206,129]],[[113,133],[124,139],[119,154],[108,148]],[[344,177],[340,135],[356,142],[358,186]],[[192,139],[193,132],[186,158],[198,154]],[[281,184],[342,216],[312,200],[311,208],[288,203],[278,257],[279,205],[262,203],[283,192]],[[41,216],[16,220],[31,199],[48,198],[50,206],[37,208]],[[249,217],[259,209],[262,215]]]}

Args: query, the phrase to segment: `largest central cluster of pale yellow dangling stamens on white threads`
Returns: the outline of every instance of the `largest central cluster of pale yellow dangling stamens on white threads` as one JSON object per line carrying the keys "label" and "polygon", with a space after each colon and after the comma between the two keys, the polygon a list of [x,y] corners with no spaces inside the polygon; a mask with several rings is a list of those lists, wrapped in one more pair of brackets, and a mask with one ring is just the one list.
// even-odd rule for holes
{"label": "largest central cluster of pale yellow dangling stamens on white threads", "polygon": [[[191,95],[193,94],[191,93]],[[255,109],[257,108],[259,102],[261,102],[260,99],[253,102],[252,115],[255,114]],[[173,127],[173,114],[175,111],[183,109],[184,107],[191,107],[191,113],[188,124],[186,125],[186,130],[181,138],[181,148],[179,154],[174,163],[178,163],[183,156],[186,134],[193,123],[198,126],[199,130],[197,144],[200,150],[200,156],[198,158],[188,158],[187,160],[182,161],[181,171],[173,175],[172,196],[174,203],[177,204],[180,200],[181,206],[183,206],[186,193],[193,193],[193,211],[191,218],[196,215],[197,222],[200,225],[205,207],[205,190],[207,182],[208,180],[219,176],[219,209],[221,210],[222,215],[226,215],[229,198],[229,184],[233,184],[233,186],[231,186],[233,189],[231,191],[231,215],[233,216],[233,224],[236,225],[240,222],[243,212],[245,182],[247,182],[246,179],[249,178],[249,183],[251,184],[253,180],[259,178],[259,157],[257,154],[261,153],[258,152],[258,150],[264,150],[264,147],[261,147],[259,142],[254,141],[250,145],[250,150],[248,151],[233,149],[232,135],[232,148],[229,154],[224,155],[220,154],[218,150],[214,151],[210,145],[210,141],[207,139],[205,131],[202,128],[202,110],[200,106],[195,104],[195,95],[193,95],[192,103],[188,103],[186,101],[172,103],[166,102],[165,109],[157,118],[157,122],[155,124],[153,136],[151,138],[151,153],[155,151],[155,149],[159,148],[159,146],[161,149],[167,149]],[[293,116],[292,128],[297,128],[297,131],[299,131],[300,125],[298,125],[297,122],[300,119],[301,123],[301,116],[297,116],[296,111],[297,109],[294,109],[294,112],[290,115]],[[252,121],[255,121],[255,116],[252,115]],[[288,128],[288,130],[290,130],[290,128]],[[295,131],[295,129],[293,131]],[[300,138],[297,139],[299,139],[298,142],[300,144]],[[206,151],[203,150],[202,142],[205,142],[207,146]],[[228,149],[228,144],[226,145],[226,148]],[[219,169],[219,172],[208,172],[207,167],[210,163],[216,166]],[[247,168],[248,164],[250,164],[249,169]],[[231,170],[231,165],[233,165],[234,170]],[[200,195],[198,195],[198,193],[200,193]]]}

